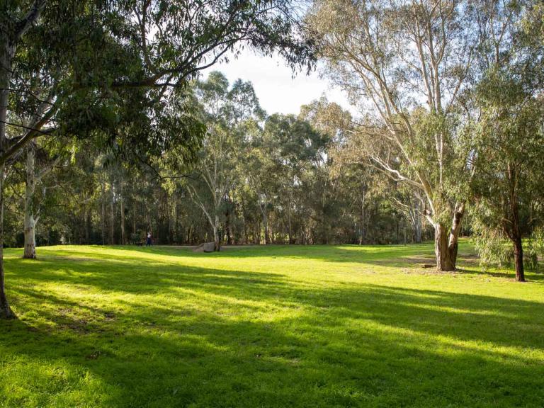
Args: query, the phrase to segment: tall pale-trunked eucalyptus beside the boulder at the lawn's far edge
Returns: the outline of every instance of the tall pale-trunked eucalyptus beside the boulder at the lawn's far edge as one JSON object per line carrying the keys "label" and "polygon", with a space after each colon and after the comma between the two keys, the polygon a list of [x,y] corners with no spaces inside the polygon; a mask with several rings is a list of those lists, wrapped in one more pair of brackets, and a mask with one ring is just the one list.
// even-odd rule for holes
{"label": "tall pale-trunked eucalyptus beside the boulder at the lawn's far edge", "polygon": [[[210,73],[196,84],[196,96],[208,130],[195,165],[193,181],[186,183],[188,193],[203,210],[213,230],[215,250],[220,249],[220,226],[224,215],[230,222],[229,192],[239,182],[239,163],[251,142],[264,113],[253,86],[237,80],[229,87],[220,72]],[[223,209],[227,206],[227,211]]]}

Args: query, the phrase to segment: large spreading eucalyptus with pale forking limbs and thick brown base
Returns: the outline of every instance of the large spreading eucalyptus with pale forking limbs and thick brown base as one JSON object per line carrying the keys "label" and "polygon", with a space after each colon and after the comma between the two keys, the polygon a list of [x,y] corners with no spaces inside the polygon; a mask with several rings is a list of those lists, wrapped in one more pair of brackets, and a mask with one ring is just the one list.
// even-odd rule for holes
{"label": "large spreading eucalyptus with pale forking limbs and thick brown base", "polygon": [[366,113],[369,164],[424,196],[443,271],[455,269],[470,179],[456,128],[472,11],[469,1],[316,0],[307,17],[327,74]]}

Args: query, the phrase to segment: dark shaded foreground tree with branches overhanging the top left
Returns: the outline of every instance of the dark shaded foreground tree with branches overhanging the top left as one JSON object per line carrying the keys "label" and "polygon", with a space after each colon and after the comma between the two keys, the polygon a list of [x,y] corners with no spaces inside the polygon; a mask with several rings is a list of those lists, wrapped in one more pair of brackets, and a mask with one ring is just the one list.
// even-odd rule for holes
{"label": "dark shaded foreground tree with branches overhanging the top left", "polygon": [[[187,84],[244,43],[278,50],[293,67],[312,62],[290,0],[2,1],[0,208],[8,161],[36,137],[107,134],[103,141],[113,142],[125,128],[118,147],[141,154],[186,144],[188,137],[176,140],[183,131],[166,139],[153,132],[149,113],[160,111],[171,86]],[[3,237],[0,227],[0,251]],[[0,314],[11,317],[1,259],[0,252]]]}

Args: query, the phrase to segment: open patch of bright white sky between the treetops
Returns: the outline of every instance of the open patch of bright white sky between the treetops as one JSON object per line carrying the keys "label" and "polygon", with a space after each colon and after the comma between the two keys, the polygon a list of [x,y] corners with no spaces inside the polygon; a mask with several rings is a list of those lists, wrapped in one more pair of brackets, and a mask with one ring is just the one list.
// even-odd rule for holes
{"label": "open patch of bright white sky between the treetops", "polygon": [[347,99],[339,89],[331,89],[327,79],[319,78],[318,72],[310,76],[298,73],[295,78],[293,72],[285,67],[280,57],[261,57],[252,51],[244,51],[237,60],[230,60],[227,64],[216,64],[204,72],[220,71],[232,84],[236,79],[251,81],[256,91],[261,107],[269,115],[272,113],[300,112],[300,106],[318,99],[326,94],[331,102],[339,103],[346,109],[352,110]]}

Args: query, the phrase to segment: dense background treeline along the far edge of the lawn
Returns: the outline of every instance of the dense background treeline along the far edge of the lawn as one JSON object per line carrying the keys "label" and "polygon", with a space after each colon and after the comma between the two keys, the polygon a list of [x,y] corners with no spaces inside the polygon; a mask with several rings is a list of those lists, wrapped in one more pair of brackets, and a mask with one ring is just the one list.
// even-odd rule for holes
{"label": "dense background treeline along the far edge of the lawn", "polygon": [[208,132],[185,169],[126,164],[89,143],[29,144],[9,175],[6,244],[25,245],[30,154],[47,169],[30,198],[38,246],[128,244],[147,232],[157,244],[197,244],[214,227],[225,244],[421,241],[419,201],[352,160],[340,126],[351,117],[336,104],[267,116],[251,84],[229,86],[218,72],[191,92]]}

